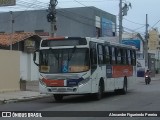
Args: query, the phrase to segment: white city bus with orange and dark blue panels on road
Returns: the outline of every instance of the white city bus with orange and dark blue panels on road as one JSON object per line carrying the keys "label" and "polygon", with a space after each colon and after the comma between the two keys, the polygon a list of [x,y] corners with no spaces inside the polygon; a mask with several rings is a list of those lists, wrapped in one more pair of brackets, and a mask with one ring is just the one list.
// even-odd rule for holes
{"label": "white city bus with orange and dark blue panels on road", "polygon": [[[36,57],[38,56],[38,57]],[[56,101],[66,95],[126,94],[136,77],[136,49],[96,38],[55,37],[41,40],[34,52],[39,90]]]}

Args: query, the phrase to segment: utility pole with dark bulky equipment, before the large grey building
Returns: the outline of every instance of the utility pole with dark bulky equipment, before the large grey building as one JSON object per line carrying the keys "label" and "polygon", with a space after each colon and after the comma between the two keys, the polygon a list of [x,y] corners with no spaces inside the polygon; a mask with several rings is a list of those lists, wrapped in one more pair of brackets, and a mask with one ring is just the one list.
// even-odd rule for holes
{"label": "utility pole with dark bulky equipment, before the large grey building", "polygon": [[57,31],[57,27],[56,27],[56,5],[57,4],[58,4],[57,0],[50,0],[50,4],[48,8],[49,13],[47,15],[47,20],[48,22],[51,22],[51,33],[50,33],[51,37],[55,37],[56,31]]}

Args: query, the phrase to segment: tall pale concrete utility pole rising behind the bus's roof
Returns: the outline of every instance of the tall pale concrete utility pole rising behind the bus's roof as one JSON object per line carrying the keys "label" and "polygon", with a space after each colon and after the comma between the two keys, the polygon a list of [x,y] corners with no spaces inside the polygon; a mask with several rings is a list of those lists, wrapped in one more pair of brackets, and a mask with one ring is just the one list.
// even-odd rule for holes
{"label": "tall pale concrete utility pole rising behind the bus's roof", "polygon": [[119,43],[122,43],[122,20],[123,20],[123,15],[122,15],[122,0],[120,0],[119,3]]}

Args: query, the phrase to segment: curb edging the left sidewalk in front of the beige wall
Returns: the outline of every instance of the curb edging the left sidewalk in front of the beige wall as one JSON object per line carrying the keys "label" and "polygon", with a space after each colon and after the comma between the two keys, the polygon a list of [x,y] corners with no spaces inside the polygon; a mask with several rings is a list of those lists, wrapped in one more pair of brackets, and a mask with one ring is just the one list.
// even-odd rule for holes
{"label": "curb edging the left sidewalk in front of the beige wall", "polygon": [[27,102],[27,101],[32,101],[32,100],[37,100],[37,99],[42,99],[42,98],[48,98],[48,97],[51,97],[51,95],[32,96],[32,97],[23,97],[23,98],[19,98],[19,99],[0,100],[0,105],[1,104],[8,104],[8,103]]}

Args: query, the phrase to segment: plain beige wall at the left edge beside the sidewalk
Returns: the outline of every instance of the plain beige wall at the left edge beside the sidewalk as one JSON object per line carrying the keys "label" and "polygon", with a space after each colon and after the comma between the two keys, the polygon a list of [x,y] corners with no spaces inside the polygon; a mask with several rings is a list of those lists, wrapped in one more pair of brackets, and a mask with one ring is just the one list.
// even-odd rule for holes
{"label": "plain beige wall at the left edge beside the sidewalk", "polygon": [[0,50],[0,92],[20,90],[20,52]]}

